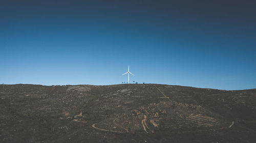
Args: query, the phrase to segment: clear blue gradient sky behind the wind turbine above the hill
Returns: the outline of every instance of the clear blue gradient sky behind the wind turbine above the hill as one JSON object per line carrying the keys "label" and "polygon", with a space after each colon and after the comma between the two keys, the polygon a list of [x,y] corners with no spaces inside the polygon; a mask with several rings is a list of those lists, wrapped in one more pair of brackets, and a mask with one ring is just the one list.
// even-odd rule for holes
{"label": "clear blue gradient sky behind the wind turbine above the hill", "polygon": [[255,1],[0,1],[0,82],[256,88]]}

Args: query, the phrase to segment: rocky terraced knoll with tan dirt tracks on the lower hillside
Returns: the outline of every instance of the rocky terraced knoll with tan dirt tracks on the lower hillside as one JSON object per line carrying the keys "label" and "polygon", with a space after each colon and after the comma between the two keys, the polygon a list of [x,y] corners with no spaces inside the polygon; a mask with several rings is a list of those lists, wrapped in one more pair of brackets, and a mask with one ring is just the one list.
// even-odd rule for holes
{"label": "rocky terraced knoll with tan dirt tracks on the lower hillside", "polygon": [[[200,105],[161,101],[158,104],[141,106],[113,120],[102,121],[98,127],[112,130],[112,126],[116,125],[115,130],[119,129],[120,132],[135,133],[144,130],[145,133],[154,133],[159,129],[188,132],[199,127],[205,127],[201,130],[208,130],[226,126],[225,123],[220,124],[216,119],[199,113],[206,114],[207,110]],[[113,124],[109,124],[112,122]]]}

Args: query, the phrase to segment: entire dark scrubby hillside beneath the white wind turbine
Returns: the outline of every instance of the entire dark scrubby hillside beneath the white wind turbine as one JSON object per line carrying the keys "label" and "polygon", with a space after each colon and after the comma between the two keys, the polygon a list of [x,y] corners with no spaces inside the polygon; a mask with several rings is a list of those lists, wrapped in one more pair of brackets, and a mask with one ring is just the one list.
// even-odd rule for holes
{"label": "entire dark scrubby hillside beneath the white wind turbine", "polygon": [[256,90],[4,85],[0,142],[256,142]]}

